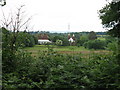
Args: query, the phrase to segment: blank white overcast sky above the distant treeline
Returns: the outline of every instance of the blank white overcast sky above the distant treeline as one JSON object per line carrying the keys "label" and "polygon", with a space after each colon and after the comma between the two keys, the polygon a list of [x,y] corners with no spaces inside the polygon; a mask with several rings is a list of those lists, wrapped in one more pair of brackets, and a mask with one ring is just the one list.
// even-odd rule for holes
{"label": "blank white overcast sky above the distant treeline", "polygon": [[[6,0],[0,7],[8,16],[10,11],[25,5],[26,16],[32,17],[30,31],[82,32],[106,31],[99,19],[98,10],[106,0]],[[68,26],[70,28],[68,29]]]}

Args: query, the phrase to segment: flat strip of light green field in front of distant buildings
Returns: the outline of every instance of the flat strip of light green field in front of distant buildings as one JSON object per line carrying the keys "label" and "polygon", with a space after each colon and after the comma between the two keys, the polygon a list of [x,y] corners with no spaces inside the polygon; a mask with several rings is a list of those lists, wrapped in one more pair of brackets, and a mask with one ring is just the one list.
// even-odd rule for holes
{"label": "flat strip of light green field in front of distant buildings", "polygon": [[91,53],[99,53],[99,54],[106,54],[109,51],[107,50],[89,50],[84,48],[83,46],[77,47],[77,46],[55,46],[55,45],[35,45],[34,47],[27,47],[24,50],[27,52],[30,52],[32,56],[38,56],[39,53],[42,53],[43,51],[48,51],[48,48],[52,49],[55,52],[61,53],[61,54],[83,54],[83,55],[89,55]]}

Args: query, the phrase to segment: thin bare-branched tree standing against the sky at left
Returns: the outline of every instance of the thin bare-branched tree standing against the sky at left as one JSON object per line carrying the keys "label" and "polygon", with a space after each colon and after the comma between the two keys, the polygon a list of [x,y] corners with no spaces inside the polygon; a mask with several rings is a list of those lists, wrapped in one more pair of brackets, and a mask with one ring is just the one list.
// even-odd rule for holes
{"label": "thin bare-branched tree standing against the sky at left", "polygon": [[20,30],[27,30],[28,29],[28,22],[31,20],[27,18],[26,20],[23,19],[24,12],[23,12],[24,5],[20,6],[17,9],[17,13],[11,14],[9,18],[6,18],[3,12],[3,20],[2,20],[2,27],[6,30],[9,30],[11,33],[11,37],[9,38],[10,49],[12,51],[17,50],[16,40]]}

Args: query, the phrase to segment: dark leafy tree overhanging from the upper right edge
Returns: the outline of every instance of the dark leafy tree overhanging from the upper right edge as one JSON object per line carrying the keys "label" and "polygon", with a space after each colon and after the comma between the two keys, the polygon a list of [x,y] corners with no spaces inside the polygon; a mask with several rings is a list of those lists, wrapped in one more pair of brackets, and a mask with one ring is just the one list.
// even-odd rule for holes
{"label": "dark leafy tree overhanging from the upper right edge", "polygon": [[120,65],[120,1],[111,2],[99,11],[100,19],[108,33],[118,38],[117,60]]}

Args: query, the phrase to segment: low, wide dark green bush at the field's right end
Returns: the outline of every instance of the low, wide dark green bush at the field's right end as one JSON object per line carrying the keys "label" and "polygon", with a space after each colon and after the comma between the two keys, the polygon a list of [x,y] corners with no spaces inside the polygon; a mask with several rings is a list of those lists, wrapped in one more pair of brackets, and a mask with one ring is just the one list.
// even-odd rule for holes
{"label": "low, wide dark green bush at the field's right end", "polygon": [[106,42],[103,40],[90,40],[84,44],[84,47],[88,49],[105,49]]}

